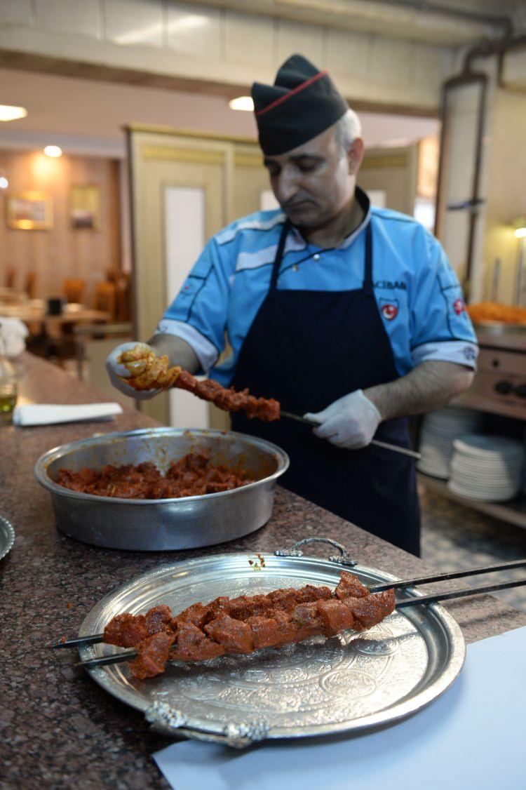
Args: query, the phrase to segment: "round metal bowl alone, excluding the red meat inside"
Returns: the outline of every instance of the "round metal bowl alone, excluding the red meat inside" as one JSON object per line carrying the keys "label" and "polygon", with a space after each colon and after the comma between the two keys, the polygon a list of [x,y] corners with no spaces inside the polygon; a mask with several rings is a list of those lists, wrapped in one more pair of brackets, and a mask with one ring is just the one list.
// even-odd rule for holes
{"label": "round metal bowl alone, excluding the red meat inside", "polygon": [[[122,499],[82,494],[56,483],[58,469],[173,461],[206,451],[212,464],[240,465],[254,478],[231,491],[178,499]],[[104,434],[55,447],[39,457],[36,480],[51,493],[58,529],[107,548],[160,551],[223,543],[269,521],[277,478],[288,456],[271,442],[233,431],[145,428]]]}

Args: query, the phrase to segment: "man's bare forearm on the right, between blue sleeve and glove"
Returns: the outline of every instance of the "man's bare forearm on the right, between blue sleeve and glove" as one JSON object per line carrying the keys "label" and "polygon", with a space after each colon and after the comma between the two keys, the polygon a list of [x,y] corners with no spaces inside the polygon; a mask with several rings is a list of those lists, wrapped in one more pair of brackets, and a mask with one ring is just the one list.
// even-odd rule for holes
{"label": "man's bare forearm on the right, between blue sleeve and glove", "polygon": [[464,365],[429,360],[396,381],[364,389],[363,393],[378,408],[382,419],[393,419],[443,406],[468,389],[473,375]]}

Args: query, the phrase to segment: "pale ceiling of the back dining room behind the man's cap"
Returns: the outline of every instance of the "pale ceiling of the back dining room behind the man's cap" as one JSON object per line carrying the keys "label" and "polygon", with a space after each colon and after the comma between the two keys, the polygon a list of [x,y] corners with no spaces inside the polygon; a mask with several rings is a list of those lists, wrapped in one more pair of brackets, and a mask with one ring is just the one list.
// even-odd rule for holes
{"label": "pale ceiling of the back dining room behind the man's cap", "polygon": [[[0,122],[0,149],[54,143],[65,152],[122,157],[122,127],[130,122],[256,137],[252,113],[230,110],[222,96],[0,69],[0,103],[28,110],[24,119]],[[370,148],[407,145],[438,131],[436,119],[359,115]]]}

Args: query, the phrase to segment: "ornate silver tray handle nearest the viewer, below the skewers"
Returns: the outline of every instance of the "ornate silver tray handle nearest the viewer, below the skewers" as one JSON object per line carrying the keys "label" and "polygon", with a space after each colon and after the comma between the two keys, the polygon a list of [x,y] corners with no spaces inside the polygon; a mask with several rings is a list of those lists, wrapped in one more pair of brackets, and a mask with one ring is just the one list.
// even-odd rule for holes
{"label": "ornate silver tray handle nearest the viewer, below the skewers", "polygon": [[269,725],[265,720],[230,721],[223,728],[223,732],[213,732],[205,727],[192,727],[187,724],[187,718],[180,710],[172,708],[167,702],[153,702],[145,711],[145,719],[149,722],[150,729],[162,735],[181,735],[183,738],[208,741],[209,743],[223,743],[234,749],[245,749],[257,741],[264,740],[269,732]]}

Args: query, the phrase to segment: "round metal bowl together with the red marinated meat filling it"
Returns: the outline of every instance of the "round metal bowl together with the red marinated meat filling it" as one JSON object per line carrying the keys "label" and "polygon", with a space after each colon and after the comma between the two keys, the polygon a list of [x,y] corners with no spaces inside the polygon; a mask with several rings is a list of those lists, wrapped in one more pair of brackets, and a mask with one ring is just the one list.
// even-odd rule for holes
{"label": "round metal bowl together with the red marinated meat filling it", "polygon": [[[196,465],[208,476],[205,493],[197,482]],[[137,486],[137,496],[135,483],[104,491],[104,468],[126,466],[129,477],[142,468],[148,470],[145,478],[152,480],[143,480],[142,490]],[[109,548],[158,551],[223,543],[259,529],[269,520],[276,480],[287,467],[287,454],[260,438],[234,431],[159,427],[56,447],[39,458],[35,475],[50,491],[58,529],[66,535]],[[66,470],[62,484],[61,469]],[[185,480],[177,485],[181,472],[186,482],[193,477],[193,488],[185,487]],[[77,484],[83,474],[84,487]],[[106,472],[105,482],[109,478],[115,485],[115,474]],[[89,486],[97,476],[103,484],[94,493]],[[234,483],[239,485],[233,487]]]}

